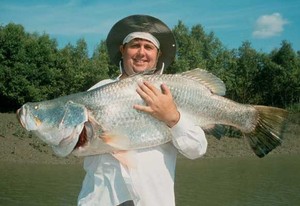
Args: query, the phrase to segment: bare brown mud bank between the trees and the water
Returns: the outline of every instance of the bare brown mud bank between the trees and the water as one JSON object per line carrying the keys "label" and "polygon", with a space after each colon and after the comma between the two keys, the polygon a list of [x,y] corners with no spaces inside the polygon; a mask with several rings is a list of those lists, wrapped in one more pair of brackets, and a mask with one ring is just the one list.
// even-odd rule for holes
{"label": "bare brown mud bank between the trees and the water", "polygon": [[[271,155],[300,154],[300,113],[290,113],[284,140]],[[203,158],[254,157],[246,138],[224,137],[217,140],[207,136],[208,150]],[[181,158],[181,157],[179,157]],[[14,113],[0,113],[0,161],[32,164],[81,164],[83,157],[57,157],[51,147],[19,124]]]}

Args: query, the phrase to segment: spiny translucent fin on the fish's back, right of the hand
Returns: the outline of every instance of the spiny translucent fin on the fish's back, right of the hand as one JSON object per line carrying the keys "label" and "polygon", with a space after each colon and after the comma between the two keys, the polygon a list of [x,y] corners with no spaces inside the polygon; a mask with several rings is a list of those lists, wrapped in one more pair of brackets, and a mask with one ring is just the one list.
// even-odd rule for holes
{"label": "spiny translucent fin on the fish's back, right of the hand", "polygon": [[196,68],[183,72],[182,75],[201,82],[201,84],[206,86],[214,94],[224,96],[226,93],[224,82],[204,69]]}

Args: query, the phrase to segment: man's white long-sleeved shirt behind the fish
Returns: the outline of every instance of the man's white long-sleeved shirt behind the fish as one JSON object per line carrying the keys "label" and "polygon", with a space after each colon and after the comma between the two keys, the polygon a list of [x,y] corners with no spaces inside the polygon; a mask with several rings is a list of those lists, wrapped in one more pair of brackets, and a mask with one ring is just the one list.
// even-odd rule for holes
{"label": "man's white long-sleeved shirt behind the fish", "polygon": [[[112,80],[104,80],[91,89]],[[174,177],[178,151],[195,159],[206,152],[203,130],[180,112],[171,129],[172,141],[134,151],[135,167],[128,169],[111,154],[84,159],[86,175],[78,197],[81,206],[116,206],[133,200],[136,206],[175,206]]]}

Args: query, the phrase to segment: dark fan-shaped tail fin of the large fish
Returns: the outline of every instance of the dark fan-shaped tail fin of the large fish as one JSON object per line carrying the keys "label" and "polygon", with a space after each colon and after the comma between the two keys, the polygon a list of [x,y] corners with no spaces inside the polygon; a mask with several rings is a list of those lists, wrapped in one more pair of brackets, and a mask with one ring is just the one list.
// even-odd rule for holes
{"label": "dark fan-shaped tail fin of the large fish", "polygon": [[256,128],[246,134],[254,153],[264,157],[281,145],[288,111],[275,107],[254,106],[258,111]]}

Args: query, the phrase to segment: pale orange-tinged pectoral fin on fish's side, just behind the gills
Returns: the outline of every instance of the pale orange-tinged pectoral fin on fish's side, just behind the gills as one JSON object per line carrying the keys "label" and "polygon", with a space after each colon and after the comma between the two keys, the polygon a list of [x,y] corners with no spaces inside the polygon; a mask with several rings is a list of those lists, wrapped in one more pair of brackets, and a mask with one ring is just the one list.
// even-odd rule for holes
{"label": "pale orange-tinged pectoral fin on fish's side, just behind the gills", "polygon": [[100,136],[104,143],[120,150],[129,149],[129,138],[118,133],[103,132]]}

